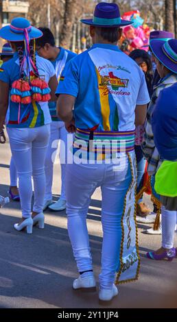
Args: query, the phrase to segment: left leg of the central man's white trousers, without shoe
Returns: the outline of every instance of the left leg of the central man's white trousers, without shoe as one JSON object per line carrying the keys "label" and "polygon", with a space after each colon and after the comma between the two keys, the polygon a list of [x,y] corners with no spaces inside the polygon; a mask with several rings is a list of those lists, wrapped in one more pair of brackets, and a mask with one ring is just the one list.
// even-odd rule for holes
{"label": "left leg of the central man's white trousers, without shoe", "polygon": [[93,269],[86,215],[91,195],[101,182],[104,165],[67,164],[66,195],[68,232],[78,271]]}

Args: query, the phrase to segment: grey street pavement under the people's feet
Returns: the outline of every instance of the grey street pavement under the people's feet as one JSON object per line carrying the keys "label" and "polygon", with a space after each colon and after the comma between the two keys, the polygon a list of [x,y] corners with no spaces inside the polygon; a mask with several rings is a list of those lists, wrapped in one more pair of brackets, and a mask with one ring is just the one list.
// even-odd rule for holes
{"label": "grey street pavement under the people's feet", "polygon": [[[56,162],[57,163],[57,162]],[[9,178],[9,144],[0,146],[0,194],[6,196]],[[60,194],[60,165],[54,166],[54,200]],[[150,204],[149,197],[145,201]],[[151,205],[152,206],[152,205]],[[64,211],[45,211],[45,230],[16,232],[20,204],[11,201],[0,209],[0,308],[104,308],[97,292],[71,288],[77,269],[67,234]],[[119,295],[107,308],[177,308],[177,258],[172,262],[145,258],[161,247],[161,236],[143,234],[152,225],[139,224],[141,269],[139,280],[119,286]],[[98,280],[102,247],[101,194],[97,189],[88,210],[88,232],[95,277]],[[177,237],[175,237],[177,246]]]}

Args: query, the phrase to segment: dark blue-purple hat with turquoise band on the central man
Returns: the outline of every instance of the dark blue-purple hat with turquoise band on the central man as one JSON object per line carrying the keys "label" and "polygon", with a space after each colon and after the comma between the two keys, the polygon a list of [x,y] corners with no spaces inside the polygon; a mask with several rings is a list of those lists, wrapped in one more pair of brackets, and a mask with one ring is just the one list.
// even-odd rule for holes
{"label": "dark blue-purple hat with turquoise band on the central man", "polygon": [[92,19],[82,19],[82,23],[97,27],[123,27],[131,25],[132,21],[121,19],[119,7],[117,3],[98,3]]}

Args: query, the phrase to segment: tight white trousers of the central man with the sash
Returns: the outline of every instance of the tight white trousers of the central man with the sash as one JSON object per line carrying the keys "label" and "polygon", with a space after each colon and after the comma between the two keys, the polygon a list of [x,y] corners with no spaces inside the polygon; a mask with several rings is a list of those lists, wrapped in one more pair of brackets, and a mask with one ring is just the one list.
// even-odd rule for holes
{"label": "tight white trousers of the central man with the sash", "polygon": [[[134,152],[132,152],[134,153]],[[117,169],[117,166],[116,166]],[[132,181],[130,163],[119,166],[111,164],[67,164],[66,195],[68,231],[78,271],[93,269],[91,249],[86,226],[88,206],[95,189],[102,189],[102,272],[99,284],[112,289],[115,273],[119,269],[121,248],[121,217],[123,201]]]}

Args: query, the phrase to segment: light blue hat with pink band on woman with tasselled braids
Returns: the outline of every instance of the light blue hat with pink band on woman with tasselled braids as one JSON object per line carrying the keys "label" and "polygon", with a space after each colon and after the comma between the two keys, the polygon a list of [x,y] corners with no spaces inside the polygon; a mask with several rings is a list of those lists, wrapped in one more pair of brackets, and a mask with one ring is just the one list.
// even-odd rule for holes
{"label": "light blue hat with pink band on woman with tasselled braids", "polygon": [[43,32],[32,27],[27,19],[19,17],[12,19],[10,25],[0,29],[0,37],[9,41],[23,41],[25,39],[25,30],[27,31],[29,39],[43,36]]}

